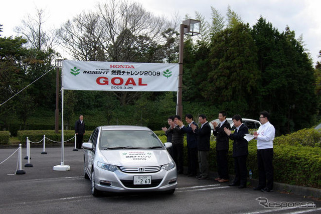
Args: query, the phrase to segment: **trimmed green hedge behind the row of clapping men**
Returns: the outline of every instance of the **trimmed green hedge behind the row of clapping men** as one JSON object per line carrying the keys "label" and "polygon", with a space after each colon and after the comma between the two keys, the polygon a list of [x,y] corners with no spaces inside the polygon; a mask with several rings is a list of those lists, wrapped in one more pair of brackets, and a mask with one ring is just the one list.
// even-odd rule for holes
{"label": "trimmed green hedge behind the row of clapping men", "polygon": [[[308,130],[311,133],[313,131]],[[314,188],[321,188],[321,148],[302,146],[312,145],[313,143],[304,142],[302,139],[306,138],[306,135],[301,136],[300,142],[292,142],[295,138],[293,136],[281,136],[275,138],[275,141],[280,143],[288,142],[284,145],[274,145],[273,167],[274,167],[274,181],[280,183],[288,183],[292,185],[308,186]],[[313,132],[314,133],[314,132]],[[159,136],[159,139],[163,143],[167,141],[166,136]],[[279,140],[278,138],[281,138]],[[296,145],[296,146],[292,146]],[[184,137],[184,163],[187,165],[187,142],[186,136]],[[217,171],[216,164],[216,140],[215,137],[211,137],[210,142],[210,170]],[[229,141],[229,153],[228,153],[228,168],[229,173],[234,174],[234,160],[232,157],[233,141]],[[248,144],[249,155],[247,157],[247,168],[252,170],[252,176],[258,179],[257,159],[256,159],[256,140],[251,140]]]}

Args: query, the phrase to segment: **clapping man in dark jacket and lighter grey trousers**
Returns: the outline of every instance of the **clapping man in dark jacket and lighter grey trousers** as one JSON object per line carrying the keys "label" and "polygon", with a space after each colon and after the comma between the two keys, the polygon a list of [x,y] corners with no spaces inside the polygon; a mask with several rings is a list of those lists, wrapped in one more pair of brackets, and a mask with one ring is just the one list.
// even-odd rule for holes
{"label": "clapping man in dark jacket and lighter grey trousers", "polygon": [[199,123],[201,124],[200,129],[198,129],[194,124],[191,124],[191,128],[197,135],[197,148],[200,167],[200,175],[198,176],[198,178],[199,180],[206,180],[209,176],[211,126],[209,122],[207,122],[205,115],[200,115]]}

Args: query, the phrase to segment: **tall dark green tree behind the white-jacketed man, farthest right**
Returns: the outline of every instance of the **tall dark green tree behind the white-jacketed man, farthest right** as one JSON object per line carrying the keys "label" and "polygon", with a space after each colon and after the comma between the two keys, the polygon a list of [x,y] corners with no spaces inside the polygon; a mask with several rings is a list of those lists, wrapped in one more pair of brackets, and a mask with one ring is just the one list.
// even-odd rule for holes
{"label": "tall dark green tree behind the white-jacketed man, farthest right", "polygon": [[[271,114],[278,134],[311,125],[315,114],[313,68],[294,31],[279,33],[262,17],[253,26],[261,72],[260,96],[256,106]],[[260,110],[258,110],[260,111]]]}

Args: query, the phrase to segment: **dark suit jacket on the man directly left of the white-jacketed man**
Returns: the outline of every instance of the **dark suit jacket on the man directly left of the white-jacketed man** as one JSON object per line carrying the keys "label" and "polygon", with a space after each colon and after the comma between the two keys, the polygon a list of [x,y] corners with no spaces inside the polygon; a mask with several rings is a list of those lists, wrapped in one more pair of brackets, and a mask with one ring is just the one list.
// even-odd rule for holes
{"label": "dark suit jacket on the man directly left of the white-jacketed man", "polygon": [[242,124],[239,128],[239,131],[236,132],[236,129],[233,134],[230,134],[230,139],[234,140],[233,142],[233,157],[248,155],[247,140],[244,139],[245,134],[249,133],[247,126]]}

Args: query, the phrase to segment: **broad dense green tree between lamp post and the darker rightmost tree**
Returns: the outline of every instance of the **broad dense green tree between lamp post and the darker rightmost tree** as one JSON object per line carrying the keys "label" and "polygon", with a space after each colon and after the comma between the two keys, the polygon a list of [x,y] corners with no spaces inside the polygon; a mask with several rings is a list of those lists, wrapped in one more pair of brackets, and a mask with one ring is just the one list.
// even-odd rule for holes
{"label": "broad dense green tree between lamp post and the darker rightmost tree", "polygon": [[230,114],[252,115],[258,88],[257,47],[245,24],[217,33],[212,39],[208,78],[202,95]]}

